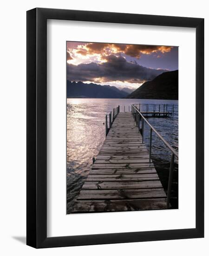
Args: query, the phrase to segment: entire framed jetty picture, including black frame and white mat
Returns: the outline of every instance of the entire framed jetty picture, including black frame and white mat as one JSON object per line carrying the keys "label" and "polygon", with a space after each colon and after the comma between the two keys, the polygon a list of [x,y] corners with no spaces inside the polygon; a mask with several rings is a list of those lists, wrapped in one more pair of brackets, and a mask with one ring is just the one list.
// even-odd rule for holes
{"label": "entire framed jetty picture, including black frame and white mat", "polygon": [[204,236],[204,19],[27,11],[27,245]]}

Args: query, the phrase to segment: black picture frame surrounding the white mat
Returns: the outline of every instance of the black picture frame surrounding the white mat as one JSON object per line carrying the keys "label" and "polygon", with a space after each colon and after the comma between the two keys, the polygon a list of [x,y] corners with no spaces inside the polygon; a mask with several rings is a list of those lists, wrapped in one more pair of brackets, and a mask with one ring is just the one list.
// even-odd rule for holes
{"label": "black picture frame surrounding the white mat", "polygon": [[[196,228],[47,237],[47,19],[196,28]],[[204,19],[35,8],[27,11],[27,229],[34,248],[130,243],[204,236]]]}

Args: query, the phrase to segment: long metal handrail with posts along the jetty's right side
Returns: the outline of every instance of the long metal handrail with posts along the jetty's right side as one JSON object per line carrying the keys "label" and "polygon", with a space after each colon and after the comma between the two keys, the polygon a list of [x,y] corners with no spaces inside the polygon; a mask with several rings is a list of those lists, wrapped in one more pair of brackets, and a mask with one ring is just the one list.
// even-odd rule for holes
{"label": "long metal handrail with posts along the jetty's right side", "polygon": [[[142,143],[144,143],[144,122],[148,124],[150,127],[150,150],[149,150],[149,162],[151,162],[151,148],[152,148],[152,131],[160,138],[161,141],[165,144],[167,148],[171,151],[171,158],[170,158],[170,171],[169,171],[169,182],[168,182],[168,192],[167,192],[167,209],[169,209],[170,205],[170,192],[171,192],[171,185],[173,179],[173,169],[174,169],[174,161],[175,157],[178,158],[178,153],[174,148],[170,146],[170,144],[163,139],[163,137],[156,131],[156,129],[144,118],[143,114],[140,110],[136,107],[136,105],[131,105],[131,113],[137,123],[138,131],[141,130],[142,133]],[[140,121],[142,122],[140,128]]]}

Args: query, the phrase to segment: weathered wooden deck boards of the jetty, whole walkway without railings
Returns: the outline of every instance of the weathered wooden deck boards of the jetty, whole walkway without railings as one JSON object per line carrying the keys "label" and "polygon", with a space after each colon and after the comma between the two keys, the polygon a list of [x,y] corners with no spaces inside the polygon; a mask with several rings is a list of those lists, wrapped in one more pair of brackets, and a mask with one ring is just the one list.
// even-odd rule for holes
{"label": "weathered wooden deck boards of the jetty, whole walkway without railings", "polygon": [[119,113],[72,213],[150,209],[166,209],[166,194],[131,113]]}

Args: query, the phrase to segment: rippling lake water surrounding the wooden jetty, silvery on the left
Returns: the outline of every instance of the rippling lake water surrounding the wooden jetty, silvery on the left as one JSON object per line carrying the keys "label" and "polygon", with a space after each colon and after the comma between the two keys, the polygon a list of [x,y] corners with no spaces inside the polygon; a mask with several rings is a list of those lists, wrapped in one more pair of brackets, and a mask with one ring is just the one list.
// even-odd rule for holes
{"label": "rippling lake water surrounding the wooden jetty, silvery on the left", "polygon": [[[178,151],[178,101],[139,99],[67,99],[67,214],[92,166],[92,158],[98,155],[105,140],[105,115],[120,105],[120,111],[128,111],[131,104],[175,104],[173,118],[148,118],[150,124]],[[149,147],[150,129],[145,124],[145,143]],[[152,160],[167,192],[170,151],[152,133]],[[178,208],[178,162],[171,191],[172,208]]]}

